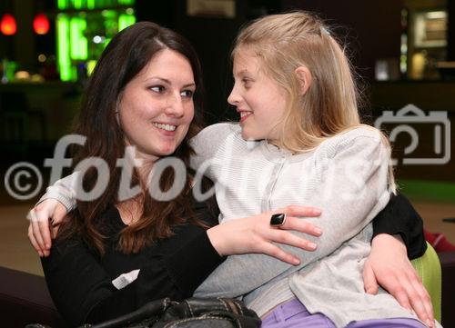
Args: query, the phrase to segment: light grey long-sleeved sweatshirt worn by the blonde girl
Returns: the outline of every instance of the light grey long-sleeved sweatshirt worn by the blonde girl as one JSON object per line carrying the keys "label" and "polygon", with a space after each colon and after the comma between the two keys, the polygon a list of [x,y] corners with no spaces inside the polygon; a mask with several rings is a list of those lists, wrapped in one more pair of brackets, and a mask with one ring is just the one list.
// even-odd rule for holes
{"label": "light grey long-sleeved sweatshirt worn by the blonde girl", "polygon": [[209,126],[193,142],[192,166],[204,168],[215,182],[221,224],[302,204],[322,209],[319,218],[302,220],[324,232],[318,239],[305,235],[318,244],[315,252],[280,245],[298,254],[298,266],[264,254],[229,256],[196,296],[243,296],[260,316],[297,297],[310,313],[324,313],[337,327],[367,319],[417,319],[389,293],[364,291],[370,222],[389,202],[389,149],[377,130],[356,128],[297,155],[266,141],[245,142],[238,124]]}

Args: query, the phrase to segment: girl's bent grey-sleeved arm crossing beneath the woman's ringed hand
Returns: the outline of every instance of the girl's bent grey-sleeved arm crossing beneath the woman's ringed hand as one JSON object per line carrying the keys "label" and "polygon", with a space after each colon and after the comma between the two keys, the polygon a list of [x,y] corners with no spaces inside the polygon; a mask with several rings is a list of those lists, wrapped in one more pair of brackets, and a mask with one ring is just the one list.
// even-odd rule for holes
{"label": "girl's bent grey-sleeved arm crossing beneath the woman's ringed hand", "polygon": [[[302,252],[284,245],[283,250],[300,258],[297,267],[263,254],[229,256],[195,295],[237,297],[249,293],[329,255],[369,224],[389,202],[389,150],[379,133],[361,129],[359,135],[358,130],[339,138],[338,144],[326,144],[315,160],[319,188],[305,203],[323,209],[318,225],[324,233],[316,251]],[[305,220],[314,223],[312,218]]]}

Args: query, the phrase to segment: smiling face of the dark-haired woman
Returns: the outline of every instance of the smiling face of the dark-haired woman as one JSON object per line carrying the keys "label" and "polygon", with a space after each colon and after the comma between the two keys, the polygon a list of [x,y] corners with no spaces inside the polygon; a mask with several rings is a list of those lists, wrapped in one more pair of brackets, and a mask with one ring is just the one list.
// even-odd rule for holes
{"label": "smiling face of the dark-haired woman", "polygon": [[136,156],[155,162],[174,153],[194,116],[196,90],[187,57],[164,49],[128,84],[118,104],[126,145]]}

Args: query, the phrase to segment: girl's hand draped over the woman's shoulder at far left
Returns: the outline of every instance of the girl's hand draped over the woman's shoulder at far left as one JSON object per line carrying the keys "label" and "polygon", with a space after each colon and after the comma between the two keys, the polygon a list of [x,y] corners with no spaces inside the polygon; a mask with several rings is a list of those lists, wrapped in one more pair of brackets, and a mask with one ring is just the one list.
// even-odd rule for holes
{"label": "girl's hand draped over the woman's shoulder at far left", "polygon": [[[56,238],[58,227],[66,215],[66,207],[56,199],[48,198],[27,214],[28,239],[39,256],[48,256],[52,238]],[[49,224],[50,223],[50,224]]]}

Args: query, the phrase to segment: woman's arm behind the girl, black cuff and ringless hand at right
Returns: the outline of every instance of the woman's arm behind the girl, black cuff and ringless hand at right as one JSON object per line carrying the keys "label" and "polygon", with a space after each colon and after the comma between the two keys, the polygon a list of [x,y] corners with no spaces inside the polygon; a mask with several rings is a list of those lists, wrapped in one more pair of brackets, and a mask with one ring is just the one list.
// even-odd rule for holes
{"label": "woman's arm behind the girl, black cuff and ringless hand at right", "polygon": [[405,196],[392,195],[373,221],[371,253],[363,268],[363,281],[367,293],[378,293],[380,285],[401,306],[413,309],[420,320],[432,323],[430,295],[410,263],[426,249],[420,215]]}

